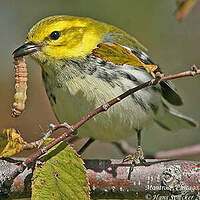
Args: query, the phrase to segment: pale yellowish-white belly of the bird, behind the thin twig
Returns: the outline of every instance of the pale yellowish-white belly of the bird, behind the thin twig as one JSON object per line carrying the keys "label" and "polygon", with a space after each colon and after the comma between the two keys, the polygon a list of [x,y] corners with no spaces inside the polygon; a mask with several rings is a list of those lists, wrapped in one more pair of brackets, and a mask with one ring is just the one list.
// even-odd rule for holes
{"label": "pale yellowish-white belly of the bird, behind the thin twig", "polygon": [[[55,80],[55,77],[51,77],[50,80],[53,79]],[[129,81],[126,83],[129,88],[135,86],[130,80],[123,81]],[[49,85],[45,83],[46,89]],[[71,125],[98,106],[124,92],[119,86],[115,85],[113,88],[108,82],[90,75],[86,75],[83,79],[75,77],[67,80],[62,87],[55,87],[51,82],[49,90],[56,98],[53,101],[50,93],[47,92],[58,121]],[[160,103],[160,95],[156,92],[150,94],[148,90],[143,90],[135,95],[142,97],[146,103],[149,101],[156,105]],[[93,137],[102,141],[117,141],[134,134],[136,129],[142,129],[153,120],[153,115],[153,111],[146,112],[141,109],[129,96],[106,112],[87,121],[79,128],[79,136]]]}

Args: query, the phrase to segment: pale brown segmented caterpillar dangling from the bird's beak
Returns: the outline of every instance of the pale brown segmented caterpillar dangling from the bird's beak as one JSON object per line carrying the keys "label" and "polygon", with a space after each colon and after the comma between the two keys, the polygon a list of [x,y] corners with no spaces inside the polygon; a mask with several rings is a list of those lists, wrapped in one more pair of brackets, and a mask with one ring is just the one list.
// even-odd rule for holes
{"label": "pale brown segmented caterpillar dangling from the bird's beak", "polygon": [[23,57],[14,58],[13,63],[15,65],[15,95],[11,116],[18,117],[25,109],[28,73]]}

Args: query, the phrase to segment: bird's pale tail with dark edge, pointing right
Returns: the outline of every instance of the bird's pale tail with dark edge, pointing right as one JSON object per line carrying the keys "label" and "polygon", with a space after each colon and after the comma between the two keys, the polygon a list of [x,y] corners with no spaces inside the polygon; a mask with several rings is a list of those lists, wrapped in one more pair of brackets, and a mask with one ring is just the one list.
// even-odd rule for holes
{"label": "bird's pale tail with dark edge, pointing right", "polygon": [[198,123],[195,120],[168,107],[164,102],[161,105],[161,109],[155,122],[168,131],[178,131],[180,129],[198,126]]}

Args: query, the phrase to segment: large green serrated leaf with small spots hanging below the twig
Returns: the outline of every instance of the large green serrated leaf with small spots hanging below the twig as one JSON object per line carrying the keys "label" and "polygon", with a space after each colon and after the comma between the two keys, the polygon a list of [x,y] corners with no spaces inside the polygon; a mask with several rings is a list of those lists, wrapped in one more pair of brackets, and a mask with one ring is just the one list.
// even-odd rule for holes
{"label": "large green serrated leaf with small spots hanging below the twig", "polygon": [[42,157],[33,173],[32,200],[89,200],[85,167],[77,153],[61,142]]}

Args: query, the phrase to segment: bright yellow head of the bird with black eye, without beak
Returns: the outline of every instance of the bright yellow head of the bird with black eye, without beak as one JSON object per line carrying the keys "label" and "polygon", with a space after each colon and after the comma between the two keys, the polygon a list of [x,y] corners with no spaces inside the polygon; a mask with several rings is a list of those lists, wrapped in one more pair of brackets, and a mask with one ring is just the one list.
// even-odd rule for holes
{"label": "bright yellow head of the bird with black eye, without beak", "polygon": [[89,18],[53,16],[34,25],[27,42],[42,46],[40,52],[33,54],[39,60],[46,56],[77,58],[91,53],[107,31],[104,23]]}

